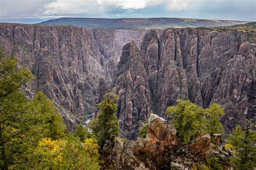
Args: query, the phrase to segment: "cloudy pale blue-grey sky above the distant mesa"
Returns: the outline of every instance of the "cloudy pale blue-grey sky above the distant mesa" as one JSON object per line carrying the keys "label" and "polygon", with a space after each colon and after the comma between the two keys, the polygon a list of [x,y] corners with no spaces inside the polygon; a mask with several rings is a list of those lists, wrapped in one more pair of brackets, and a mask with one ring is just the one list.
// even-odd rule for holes
{"label": "cloudy pale blue-grey sky above the distant mesa", "polygon": [[256,0],[0,0],[0,22],[61,17],[256,19]]}

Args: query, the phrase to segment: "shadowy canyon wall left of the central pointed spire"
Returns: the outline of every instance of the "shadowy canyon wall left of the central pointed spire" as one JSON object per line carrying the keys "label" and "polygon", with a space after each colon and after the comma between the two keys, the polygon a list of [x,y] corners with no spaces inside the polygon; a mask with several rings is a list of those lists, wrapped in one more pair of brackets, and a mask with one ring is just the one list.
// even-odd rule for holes
{"label": "shadowy canyon wall left of the central pointed spire", "polygon": [[35,75],[23,90],[28,97],[43,91],[70,129],[82,122],[87,111],[95,112],[109,90],[122,45],[131,41],[124,35],[140,44],[143,31],[0,24],[4,52],[17,56],[19,65]]}

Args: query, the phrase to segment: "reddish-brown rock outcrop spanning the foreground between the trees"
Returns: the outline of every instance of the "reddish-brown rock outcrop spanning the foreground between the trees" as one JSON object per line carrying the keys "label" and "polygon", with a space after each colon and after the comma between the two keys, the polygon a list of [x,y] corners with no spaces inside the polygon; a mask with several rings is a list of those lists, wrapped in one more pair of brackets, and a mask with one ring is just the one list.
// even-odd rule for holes
{"label": "reddish-brown rock outcrop spanning the foreground between the trees", "polygon": [[[218,140],[217,140],[218,138]],[[231,153],[221,148],[221,136],[216,134],[213,142],[207,133],[198,133],[188,145],[183,145],[177,137],[174,126],[164,118],[151,114],[146,138],[137,141],[120,140],[112,136],[106,141],[102,155],[104,169],[192,169],[206,165],[206,158],[221,158],[220,164],[230,165]]]}

